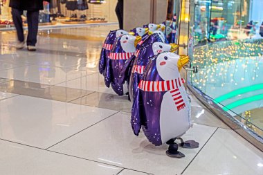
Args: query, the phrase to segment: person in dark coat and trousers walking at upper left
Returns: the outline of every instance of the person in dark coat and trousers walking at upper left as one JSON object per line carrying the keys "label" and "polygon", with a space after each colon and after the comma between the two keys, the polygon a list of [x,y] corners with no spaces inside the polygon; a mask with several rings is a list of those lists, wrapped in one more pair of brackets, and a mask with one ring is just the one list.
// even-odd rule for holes
{"label": "person in dark coat and trousers walking at upper left", "polygon": [[[50,0],[45,0],[50,2]],[[12,19],[17,29],[17,49],[24,48],[24,30],[21,15],[26,10],[26,17],[28,22],[28,37],[26,45],[29,51],[35,51],[35,44],[37,43],[37,31],[39,23],[39,10],[43,10],[43,0],[10,0],[9,6],[12,8]]]}

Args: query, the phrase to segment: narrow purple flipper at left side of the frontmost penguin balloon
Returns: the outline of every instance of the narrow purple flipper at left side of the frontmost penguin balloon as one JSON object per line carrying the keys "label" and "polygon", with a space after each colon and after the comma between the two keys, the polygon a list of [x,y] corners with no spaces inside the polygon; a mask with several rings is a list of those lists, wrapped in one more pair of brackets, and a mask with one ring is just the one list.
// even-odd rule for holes
{"label": "narrow purple flipper at left side of the frontmost penguin balloon", "polygon": [[134,98],[134,103],[132,104],[132,108],[131,108],[131,128],[136,136],[138,136],[140,133],[140,128],[141,128],[140,115],[142,115],[143,112],[141,110],[143,104],[140,100],[141,100],[140,89],[137,89]]}

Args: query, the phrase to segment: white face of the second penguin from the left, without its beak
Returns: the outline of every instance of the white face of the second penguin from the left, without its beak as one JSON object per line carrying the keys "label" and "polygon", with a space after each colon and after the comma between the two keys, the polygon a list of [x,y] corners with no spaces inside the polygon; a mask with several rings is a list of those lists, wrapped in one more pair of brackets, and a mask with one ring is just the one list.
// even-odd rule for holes
{"label": "white face of the second penguin from the left, without its beak", "polygon": [[136,51],[134,46],[136,37],[132,35],[123,35],[120,38],[120,46],[122,46],[125,53],[132,53]]}

